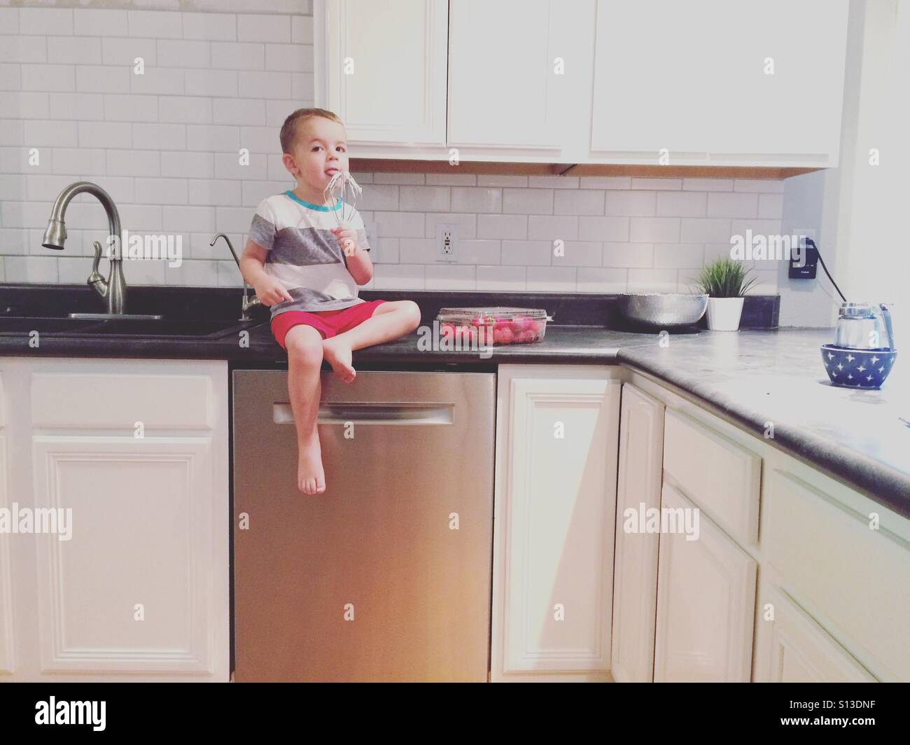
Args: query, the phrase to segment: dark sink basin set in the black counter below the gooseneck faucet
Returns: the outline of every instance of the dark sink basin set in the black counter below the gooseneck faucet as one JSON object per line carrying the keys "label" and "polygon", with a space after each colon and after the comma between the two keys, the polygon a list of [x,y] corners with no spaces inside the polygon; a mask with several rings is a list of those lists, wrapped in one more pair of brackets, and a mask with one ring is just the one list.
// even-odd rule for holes
{"label": "dark sink basin set in the black counter below the gooseneck faucet", "polygon": [[142,336],[218,338],[249,329],[261,321],[201,319],[110,319],[0,317],[0,336],[30,332],[51,336]]}

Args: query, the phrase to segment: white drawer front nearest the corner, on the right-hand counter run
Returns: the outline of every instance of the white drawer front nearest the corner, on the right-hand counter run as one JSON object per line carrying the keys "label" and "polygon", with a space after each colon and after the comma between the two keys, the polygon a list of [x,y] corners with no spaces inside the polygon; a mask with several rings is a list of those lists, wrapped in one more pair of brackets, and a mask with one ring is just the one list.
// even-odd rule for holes
{"label": "white drawer front nearest the corner, on the right-hand counter run", "polygon": [[729,437],[667,410],[663,470],[733,538],[758,543],[762,458]]}

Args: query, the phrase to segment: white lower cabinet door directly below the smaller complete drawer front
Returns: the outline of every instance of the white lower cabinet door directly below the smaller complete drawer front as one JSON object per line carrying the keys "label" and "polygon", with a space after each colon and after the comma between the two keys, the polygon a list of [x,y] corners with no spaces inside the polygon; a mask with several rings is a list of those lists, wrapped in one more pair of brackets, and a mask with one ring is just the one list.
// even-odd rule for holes
{"label": "white lower cabinet door directly below the smaller complete drawer front", "polygon": [[753,558],[664,484],[657,577],[656,682],[748,682]]}

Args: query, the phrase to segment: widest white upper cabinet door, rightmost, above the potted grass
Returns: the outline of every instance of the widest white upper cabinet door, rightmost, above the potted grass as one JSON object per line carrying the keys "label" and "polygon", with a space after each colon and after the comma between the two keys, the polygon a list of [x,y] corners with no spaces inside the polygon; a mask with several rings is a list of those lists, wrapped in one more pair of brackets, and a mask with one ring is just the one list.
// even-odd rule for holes
{"label": "widest white upper cabinet door, rightmost, above the potted grass", "polygon": [[591,156],[836,166],[847,0],[598,0]]}

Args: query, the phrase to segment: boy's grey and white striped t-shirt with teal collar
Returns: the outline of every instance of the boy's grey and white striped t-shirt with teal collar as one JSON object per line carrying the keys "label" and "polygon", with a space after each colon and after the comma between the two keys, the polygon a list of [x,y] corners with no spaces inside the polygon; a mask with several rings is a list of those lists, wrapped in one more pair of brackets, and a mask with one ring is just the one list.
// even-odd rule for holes
{"label": "boy's grey and white striped t-shirt with teal collar", "polygon": [[[266,273],[280,281],[294,299],[273,305],[272,318],[285,311],[339,311],[363,302],[344,251],[332,233],[338,228],[336,211],[340,208],[340,201],[329,208],[298,199],[292,191],[259,202],[249,238],[268,250]],[[358,245],[369,250],[363,219],[351,209],[344,207],[345,217],[357,231]]]}

